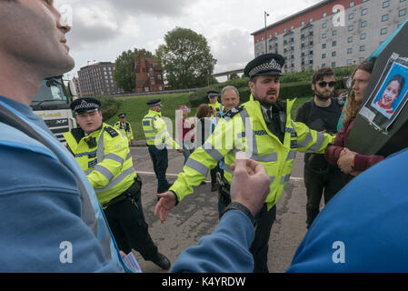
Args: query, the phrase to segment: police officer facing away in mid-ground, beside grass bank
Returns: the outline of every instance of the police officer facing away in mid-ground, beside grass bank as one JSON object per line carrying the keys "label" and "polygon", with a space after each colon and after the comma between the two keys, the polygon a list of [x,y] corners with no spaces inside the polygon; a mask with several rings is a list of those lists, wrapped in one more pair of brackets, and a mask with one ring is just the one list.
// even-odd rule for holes
{"label": "police officer facing away in mid-ground, beside grass bank", "polygon": [[184,150],[168,133],[165,122],[161,118],[161,99],[152,99],[146,104],[149,106],[149,112],[142,120],[144,136],[152,158],[154,174],[157,177],[157,193],[164,193],[171,186],[165,177],[168,166],[166,146],[173,147],[179,153],[183,153]]}

